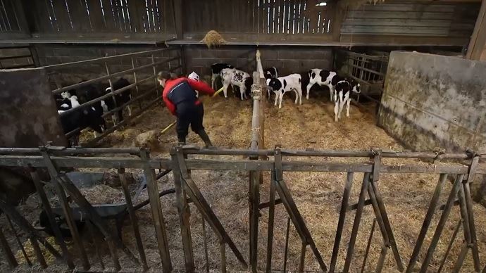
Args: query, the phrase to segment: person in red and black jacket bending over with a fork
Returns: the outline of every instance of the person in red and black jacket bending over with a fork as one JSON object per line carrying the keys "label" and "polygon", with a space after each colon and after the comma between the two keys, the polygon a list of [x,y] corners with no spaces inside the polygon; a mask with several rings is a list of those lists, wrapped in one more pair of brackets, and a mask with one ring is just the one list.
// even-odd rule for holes
{"label": "person in red and black jacket bending over with a fork", "polygon": [[204,82],[186,77],[176,78],[164,71],[158,72],[157,80],[163,87],[163,101],[166,102],[170,113],[177,117],[176,131],[179,143],[186,143],[190,124],[192,131],[199,134],[206,148],[213,146],[202,125],[204,108],[201,101],[197,99],[195,90],[200,94],[208,95],[213,95],[215,91]]}

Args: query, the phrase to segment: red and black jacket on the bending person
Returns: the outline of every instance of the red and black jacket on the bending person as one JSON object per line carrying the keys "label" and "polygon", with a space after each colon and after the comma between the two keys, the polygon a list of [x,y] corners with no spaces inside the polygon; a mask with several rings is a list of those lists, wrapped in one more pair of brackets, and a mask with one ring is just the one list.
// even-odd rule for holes
{"label": "red and black jacket on the bending person", "polygon": [[177,115],[175,110],[178,103],[192,103],[199,105],[201,101],[197,100],[196,92],[199,91],[202,94],[213,95],[215,91],[204,82],[198,82],[195,80],[180,77],[175,80],[167,80],[166,87],[163,89],[162,98],[166,103],[170,113]]}

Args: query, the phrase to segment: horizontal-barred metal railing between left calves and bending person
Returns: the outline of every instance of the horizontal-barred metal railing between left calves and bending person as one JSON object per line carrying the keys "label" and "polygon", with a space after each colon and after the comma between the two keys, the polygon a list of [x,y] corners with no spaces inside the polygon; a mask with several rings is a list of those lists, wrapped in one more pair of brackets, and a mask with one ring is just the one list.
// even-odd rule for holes
{"label": "horizontal-barred metal railing between left calves and bending person", "polygon": [[[113,127],[110,127],[106,129],[100,136],[96,136],[94,139],[90,139],[86,143],[82,144],[83,146],[91,146],[95,144],[97,141],[100,139],[104,138],[104,136],[110,134],[111,132],[114,132],[116,129],[124,126],[129,122],[132,118],[137,117],[138,115],[142,114],[145,110],[147,110],[150,106],[152,106],[154,103],[157,101],[160,101],[161,99],[161,87],[158,85],[158,81],[156,79],[156,73],[158,72],[158,69],[163,66],[164,70],[169,70],[170,72],[173,72],[175,70],[179,70],[182,72],[182,60],[181,60],[181,52],[177,51],[177,56],[175,57],[167,57],[163,56],[164,52],[167,51],[175,51],[178,48],[167,48],[167,49],[155,49],[155,50],[150,50],[150,51],[141,51],[141,52],[135,52],[135,53],[127,53],[127,54],[121,54],[121,55],[116,55],[116,56],[107,56],[107,57],[102,57],[102,58],[94,58],[86,61],[76,61],[76,62],[70,62],[70,63],[61,63],[58,65],[47,65],[42,68],[46,69],[47,72],[49,73],[49,77],[51,82],[53,82],[56,86],[56,89],[52,91],[53,95],[56,94],[61,94],[63,91],[69,91],[73,89],[78,89],[80,87],[87,87],[90,84],[100,84],[101,82],[108,82],[109,86],[111,87],[111,91],[108,93],[102,92],[103,95],[91,99],[90,101],[84,101],[78,106],[77,108],[71,108],[69,110],[64,111],[60,115],[69,115],[70,113],[73,113],[74,111],[79,111],[82,108],[86,108],[89,106],[94,105],[94,103],[99,103],[99,101],[103,101],[104,99],[108,99],[110,97],[114,98],[117,94],[122,93],[123,91],[127,91],[129,89],[135,89],[135,92],[132,91],[132,99],[130,101],[127,101],[126,103],[123,103],[123,105],[118,106],[116,105],[116,101],[113,99],[115,102],[115,108],[108,110],[107,113],[103,114],[103,118],[106,118],[109,115],[112,115],[114,113],[118,113],[119,110],[123,110],[127,106],[132,106],[132,104],[138,102],[138,107],[139,110],[132,114],[132,116],[128,118],[124,118],[123,121],[118,121],[118,123],[114,123]],[[145,64],[145,65],[139,65],[138,58],[149,58],[150,63]],[[156,58],[163,58],[163,61],[156,61]],[[171,65],[172,61],[178,60],[178,65],[175,67]],[[132,68],[129,68],[127,70],[122,70],[118,72],[111,72],[113,71],[113,68],[111,68],[112,63],[117,62],[117,63],[131,63]],[[106,73],[106,75],[101,76],[101,77],[96,77],[91,80],[85,80],[82,82],[79,82],[77,84],[69,84],[67,86],[62,86],[61,80],[59,79],[61,77],[61,74],[70,74],[73,73],[75,74],[75,69],[76,68],[82,68],[85,65],[99,65],[99,73]],[[150,70],[150,71],[149,71]],[[66,71],[69,71],[66,73]],[[149,71],[149,72],[147,72]],[[90,72],[96,72],[96,71],[90,71]],[[143,72],[143,73],[142,73]],[[145,77],[140,79],[144,75]],[[147,75],[149,75],[147,77]],[[114,89],[113,88],[113,81],[117,80],[118,77],[133,77],[134,82],[127,87],[123,87],[120,89]],[[149,84],[150,81],[154,81],[154,87],[148,88],[147,89],[147,84]],[[143,90],[142,89],[146,89]],[[135,95],[135,96],[133,96]],[[152,96],[150,96],[152,95]],[[149,99],[148,103],[145,106],[142,106],[142,101]],[[80,128],[74,129],[71,132],[66,132],[66,137],[69,138],[70,136],[73,136],[74,134],[77,134],[80,132]]]}

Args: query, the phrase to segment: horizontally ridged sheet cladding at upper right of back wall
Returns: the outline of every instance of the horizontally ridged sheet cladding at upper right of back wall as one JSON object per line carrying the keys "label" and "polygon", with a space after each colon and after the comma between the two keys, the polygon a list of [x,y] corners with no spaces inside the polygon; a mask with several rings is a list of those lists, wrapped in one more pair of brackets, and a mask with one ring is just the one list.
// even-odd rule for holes
{"label": "horizontally ridged sheet cladding at upper right of back wall", "polygon": [[480,4],[366,4],[347,12],[342,34],[467,37]]}

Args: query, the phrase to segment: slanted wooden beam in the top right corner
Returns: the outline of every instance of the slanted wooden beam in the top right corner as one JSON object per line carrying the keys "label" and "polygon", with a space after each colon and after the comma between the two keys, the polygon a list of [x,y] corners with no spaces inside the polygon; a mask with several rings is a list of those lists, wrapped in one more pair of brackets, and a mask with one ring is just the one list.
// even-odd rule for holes
{"label": "slanted wooden beam in the top right corner", "polygon": [[469,42],[466,58],[471,60],[486,60],[486,0],[482,0],[481,8],[476,19],[473,36]]}

